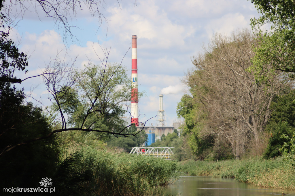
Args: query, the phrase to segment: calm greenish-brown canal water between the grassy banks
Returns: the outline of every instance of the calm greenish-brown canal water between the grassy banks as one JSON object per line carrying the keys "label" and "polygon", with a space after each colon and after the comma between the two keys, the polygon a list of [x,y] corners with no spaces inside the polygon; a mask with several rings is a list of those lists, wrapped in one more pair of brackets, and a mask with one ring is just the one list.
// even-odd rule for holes
{"label": "calm greenish-brown canal water between the grassy banks", "polygon": [[293,190],[261,188],[231,178],[182,176],[164,187],[166,194],[179,196],[295,196]]}

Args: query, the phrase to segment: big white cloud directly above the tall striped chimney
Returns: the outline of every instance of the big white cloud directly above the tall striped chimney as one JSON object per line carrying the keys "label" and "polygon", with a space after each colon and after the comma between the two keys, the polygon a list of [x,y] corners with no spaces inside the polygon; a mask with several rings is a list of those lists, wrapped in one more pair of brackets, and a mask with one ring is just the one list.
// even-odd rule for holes
{"label": "big white cloud directly above the tall striped chimney", "polygon": [[155,1],[138,2],[135,8],[109,8],[109,25],[113,32],[118,31],[119,40],[130,40],[130,35],[137,35],[144,40],[142,48],[164,48],[183,46],[184,39],[191,36],[195,28],[171,21],[165,10],[160,9]]}

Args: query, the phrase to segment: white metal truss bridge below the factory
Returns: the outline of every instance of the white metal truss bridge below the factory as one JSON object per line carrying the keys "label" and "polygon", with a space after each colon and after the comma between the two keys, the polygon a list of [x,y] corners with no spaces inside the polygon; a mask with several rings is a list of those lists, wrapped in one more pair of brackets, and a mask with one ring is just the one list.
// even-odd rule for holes
{"label": "white metal truss bridge below the factory", "polygon": [[134,147],[129,154],[145,155],[170,159],[174,147]]}

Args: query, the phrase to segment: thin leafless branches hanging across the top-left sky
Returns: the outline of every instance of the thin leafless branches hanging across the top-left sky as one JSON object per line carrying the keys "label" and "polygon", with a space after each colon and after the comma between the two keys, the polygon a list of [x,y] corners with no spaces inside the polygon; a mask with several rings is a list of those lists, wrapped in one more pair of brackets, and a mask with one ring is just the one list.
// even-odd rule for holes
{"label": "thin leafless branches hanging across the top-left sky", "polygon": [[[83,9],[88,9],[91,16],[97,16],[97,19],[102,22],[107,21],[101,13],[106,5],[104,0],[73,0],[73,1],[54,1],[54,0],[0,0],[1,11],[7,16],[7,21],[10,26],[16,24],[17,18],[23,17],[26,12],[35,12],[37,16],[52,18],[59,29],[62,29],[64,36],[70,36],[71,40],[76,39],[71,29],[75,26],[71,25],[71,20],[76,17],[77,12]],[[119,4],[119,2],[118,2]],[[41,19],[41,18],[40,18]]]}

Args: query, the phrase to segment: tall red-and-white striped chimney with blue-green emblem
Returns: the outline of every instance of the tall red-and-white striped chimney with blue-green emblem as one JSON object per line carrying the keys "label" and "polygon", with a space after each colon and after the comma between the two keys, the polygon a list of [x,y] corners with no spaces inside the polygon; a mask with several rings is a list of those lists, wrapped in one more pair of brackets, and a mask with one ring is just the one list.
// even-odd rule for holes
{"label": "tall red-and-white striped chimney with blue-green emblem", "polygon": [[136,35],[132,35],[132,89],[131,89],[131,123],[138,126],[138,91],[137,91],[137,45]]}

